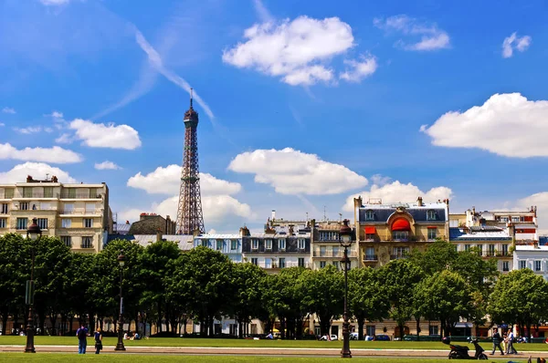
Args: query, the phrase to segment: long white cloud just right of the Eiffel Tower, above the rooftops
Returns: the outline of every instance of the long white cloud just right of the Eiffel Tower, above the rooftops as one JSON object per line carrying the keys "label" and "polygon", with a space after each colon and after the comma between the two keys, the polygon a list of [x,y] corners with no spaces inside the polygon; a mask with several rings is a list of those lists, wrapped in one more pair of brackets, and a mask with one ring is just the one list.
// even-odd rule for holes
{"label": "long white cloud just right of the Eiffel Tower, above the rooftops", "polygon": [[270,184],[282,194],[337,194],[367,184],[367,179],[342,165],[290,148],[238,154],[228,169],[253,173],[256,182]]}

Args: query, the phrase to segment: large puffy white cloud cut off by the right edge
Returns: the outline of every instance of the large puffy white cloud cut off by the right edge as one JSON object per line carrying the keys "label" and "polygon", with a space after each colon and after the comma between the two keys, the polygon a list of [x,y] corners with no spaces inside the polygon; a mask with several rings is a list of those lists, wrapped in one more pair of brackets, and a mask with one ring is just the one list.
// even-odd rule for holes
{"label": "large puffy white cloud cut off by the right edge", "polygon": [[478,148],[513,158],[548,156],[548,101],[495,94],[481,106],[449,111],[421,129],[437,146]]}

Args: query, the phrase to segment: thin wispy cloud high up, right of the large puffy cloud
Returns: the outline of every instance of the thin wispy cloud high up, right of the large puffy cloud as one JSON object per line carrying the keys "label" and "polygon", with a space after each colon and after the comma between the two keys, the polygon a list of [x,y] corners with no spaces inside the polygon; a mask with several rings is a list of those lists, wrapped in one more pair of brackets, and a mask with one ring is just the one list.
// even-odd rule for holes
{"label": "thin wispy cloud high up, right of the large puffy cloud", "polygon": [[437,25],[421,23],[417,19],[406,16],[390,16],[374,18],[374,26],[385,30],[386,33],[401,33],[405,36],[420,36],[415,43],[408,43],[399,39],[395,45],[406,50],[428,51],[450,47],[448,33],[439,29]]}

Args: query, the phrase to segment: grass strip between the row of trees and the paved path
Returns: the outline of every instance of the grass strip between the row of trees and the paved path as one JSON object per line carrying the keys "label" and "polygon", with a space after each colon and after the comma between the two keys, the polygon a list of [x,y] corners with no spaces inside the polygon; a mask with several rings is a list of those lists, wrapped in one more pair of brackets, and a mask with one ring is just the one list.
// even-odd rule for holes
{"label": "grass strip between the row of trees and the paved path", "polygon": [[[115,346],[116,337],[103,338],[103,345]],[[0,346],[25,346],[26,337],[0,336]],[[466,345],[466,343],[457,343]],[[35,337],[35,345],[40,346],[78,346],[76,337]],[[90,337],[88,345],[93,345]],[[317,341],[317,340],[252,340],[252,339],[221,339],[199,337],[153,337],[147,340],[125,340],[126,347],[342,347],[342,341]],[[350,347],[374,348],[374,349],[441,349],[448,346],[441,342],[407,342],[407,341],[355,341],[350,342]],[[473,347],[469,345],[471,349]],[[481,343],[481,347],[490,350],[490,343]],[[548,344],[516,344],[518,351],[546,351]]]}

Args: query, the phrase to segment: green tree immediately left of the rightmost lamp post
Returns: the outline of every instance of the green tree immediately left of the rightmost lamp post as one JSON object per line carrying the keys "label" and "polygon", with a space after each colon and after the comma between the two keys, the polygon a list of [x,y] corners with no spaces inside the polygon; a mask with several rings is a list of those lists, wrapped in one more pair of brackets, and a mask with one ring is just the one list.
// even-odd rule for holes
{"label": "green tree immediately left of the rightmost lamp post", "polygon": [[327,335],[332,319],[343,311],[342,273],[333,265],[328,265],[320,270],[306,270],[302,277],[302,304],[309,313],[318,316],[321,335]]}

